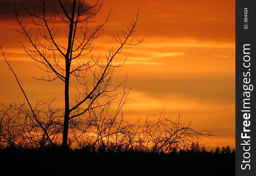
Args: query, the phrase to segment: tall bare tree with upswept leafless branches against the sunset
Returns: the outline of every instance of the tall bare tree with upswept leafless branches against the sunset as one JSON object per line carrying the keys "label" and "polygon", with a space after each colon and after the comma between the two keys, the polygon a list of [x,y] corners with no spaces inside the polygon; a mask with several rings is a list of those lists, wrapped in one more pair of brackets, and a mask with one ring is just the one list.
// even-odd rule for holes
{"label": "tall bare tree with upswept leafless branches against the sunset", "polygon": [[[121,52],[124,45],[137,45],[142,40],[138,43],[132,43],[133,39],[128,40],[135,31],[137,14],[135,21],[131,22],[131,26],[127,27],[126,31],[122,30],[121,33],[117,32],[114,35],[119,43],[119,48],[117,50],[109,49],[104,58],[94,57],[92,54],[93,40],[99,37],[99,31],[107,23],[109,14],[105,21],[99,22],[94,28],[89,28],[89,20],[97,15],[102,7],[102,2],[96,1],[94,4],[86,4],[84,0],[59,0],[51,3],[51,1],[39,0],[39,4],[35,8],[29,8],[21,1],[24,10],[31,16],[30,23],[29,21],[22,21],[17,3],[15,3],[15,20],[19,25],[16,31],[22,33],[29,43],[29,45],[22,44],[25,52],[31,59],[38,62],[41,70],[49,73],[47,78],[35,79],[45,81],[60,79],[63,82],[62,147],[67,148],[70,124],[77,125],[78,121],[91,118],[94,109],[109,105],[117,96],[115,91],[121,84],[114,89],[109,89],[114,68],[122,65],[114,65],[112,63],[114,57]],[[56,21],[61,21],[65,27],[59,28],[55,23]],[[32,32],[36,29],[38,30],[37,34]],[[58,42],[59,35],[65,35],[66,41]],[[61,62],[63,61],[64,64],[62,65]],[[72,76],[76,79],[71,79]],[[71,81],[82,85],[82,89],[77,87],[77,97],[74,99],[69,97]],[[108,97],[108,99],[100,101],[101,97]],[[34,119],[38,121],[27,97],[26,100]],[[38,121],[38,124],[40,123]],[[41,128],[50,140],[47,131],[44,127]]]}

